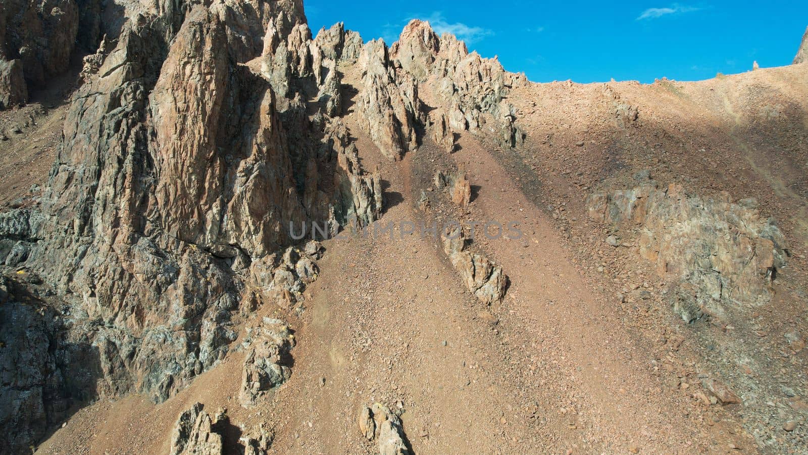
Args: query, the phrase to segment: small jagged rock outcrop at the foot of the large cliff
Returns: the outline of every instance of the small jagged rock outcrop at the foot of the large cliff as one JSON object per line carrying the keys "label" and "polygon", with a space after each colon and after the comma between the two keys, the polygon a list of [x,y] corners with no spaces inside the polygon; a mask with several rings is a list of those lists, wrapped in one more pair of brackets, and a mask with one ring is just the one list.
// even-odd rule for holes
{"label": "small jagged rock outcrop at the foot of the large cliff", "polygon": [[242,406],[250,407],[291,376],[286,362],[294,347],[294,337],[283,321],[264,317],[260,325],[248,330],[244,344],[247,351],[240,400]]}

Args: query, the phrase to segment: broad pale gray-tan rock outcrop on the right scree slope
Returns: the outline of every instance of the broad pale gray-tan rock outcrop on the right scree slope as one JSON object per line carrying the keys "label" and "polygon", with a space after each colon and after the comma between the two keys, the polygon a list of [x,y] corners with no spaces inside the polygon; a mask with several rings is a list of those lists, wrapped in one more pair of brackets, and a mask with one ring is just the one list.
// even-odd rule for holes
{"label": "broad pale gray-tan rock outcrop on the right scree slope", "polygon": [[752,200],[731,202],[726,193],[699,198],[681,185],[659,185],[638,175],[633,189],[597,193],[587,201],[591,218],[640,227],[639,251],[660,276],[680,284],[671,293],[685,321],[722,316],[734,306],[771,300],[772,280],[785,266],[788,246],[773,219]]}

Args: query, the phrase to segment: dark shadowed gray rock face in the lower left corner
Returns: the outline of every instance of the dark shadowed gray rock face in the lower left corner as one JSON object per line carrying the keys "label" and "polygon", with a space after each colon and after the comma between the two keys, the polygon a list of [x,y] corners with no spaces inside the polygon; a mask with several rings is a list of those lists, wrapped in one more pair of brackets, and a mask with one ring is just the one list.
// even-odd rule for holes
{"label": "dark shadowed gray rock face in the lower left corner", "polygon": [[49,426],[86,401],[97,351],[65,330],[64,308],[40,298],[32,274],[0,276],[0,453],[30,453]]}

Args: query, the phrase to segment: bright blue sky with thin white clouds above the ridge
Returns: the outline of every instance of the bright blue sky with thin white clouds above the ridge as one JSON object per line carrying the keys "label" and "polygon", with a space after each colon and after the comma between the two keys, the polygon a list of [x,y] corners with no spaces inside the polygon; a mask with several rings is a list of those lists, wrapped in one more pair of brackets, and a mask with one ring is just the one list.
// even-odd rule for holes
{"label": "bright blue sky with thin white clouds above the ridge", "polygon": [[789,65],[808,26],[808,2],[334,2],[304,0],[309,25],[344,22],[388,44],[409,19],[455,32],[483,57],[536,82],[710,79]]}

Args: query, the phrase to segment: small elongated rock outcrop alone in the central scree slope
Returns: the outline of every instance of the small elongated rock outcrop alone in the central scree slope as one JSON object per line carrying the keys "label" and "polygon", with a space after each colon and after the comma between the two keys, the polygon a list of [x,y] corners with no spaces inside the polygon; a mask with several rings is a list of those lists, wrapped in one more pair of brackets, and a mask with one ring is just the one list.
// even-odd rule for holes
{"label": "small elongated rock outcrop alone in the central scree slope", "polygon": [[494,265],[484,255],[466,249],[461,230],[445,234],[444,252],[460,273],[465,286],[483,304],[494,304],[505,298],[508,282],[502,267]]}

